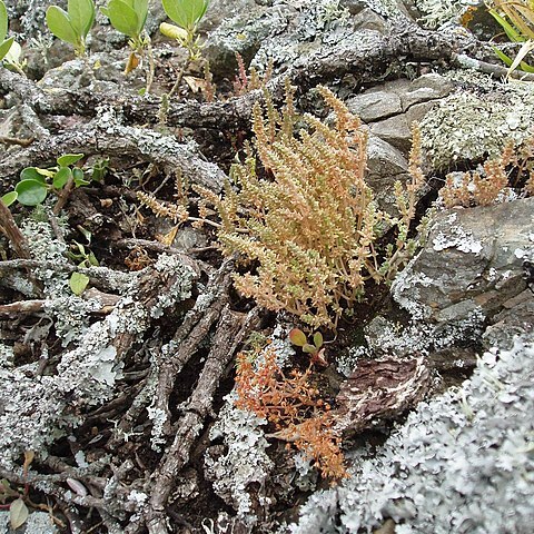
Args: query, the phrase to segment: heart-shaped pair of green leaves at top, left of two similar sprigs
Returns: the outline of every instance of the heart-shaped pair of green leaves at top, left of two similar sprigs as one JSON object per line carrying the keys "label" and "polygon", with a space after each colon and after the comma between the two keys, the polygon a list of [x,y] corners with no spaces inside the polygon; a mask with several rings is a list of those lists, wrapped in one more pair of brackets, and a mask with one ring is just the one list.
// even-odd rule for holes
{"label": "heart-shaped pair of green leaves at top, left of two similar sprigs", "polygon": [[58,39],[72,44],[77,56],[83,56],[86,52],[86,38],[93,22],[92,0],[69,0],[67,11],[58,6],[50,6],[47,9],[48,28]]}

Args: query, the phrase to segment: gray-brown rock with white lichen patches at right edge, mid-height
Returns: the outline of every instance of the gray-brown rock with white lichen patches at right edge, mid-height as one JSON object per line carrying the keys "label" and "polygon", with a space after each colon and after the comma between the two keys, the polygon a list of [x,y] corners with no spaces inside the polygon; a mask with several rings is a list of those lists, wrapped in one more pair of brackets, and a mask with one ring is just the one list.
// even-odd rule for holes
{"label": "gray-brown rock with white lichen patches at right edge, mid-height", "polygon": [[474,310],[491,318],[525,289],[523,264],[533,254],[532,198],[444,211],[392,291],[415,318],[446,324]]}

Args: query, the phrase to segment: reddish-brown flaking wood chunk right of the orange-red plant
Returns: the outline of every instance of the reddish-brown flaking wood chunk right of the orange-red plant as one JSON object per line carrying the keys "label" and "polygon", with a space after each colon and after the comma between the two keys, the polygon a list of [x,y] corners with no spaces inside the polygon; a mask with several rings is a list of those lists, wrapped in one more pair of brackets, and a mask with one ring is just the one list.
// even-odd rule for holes
{"label": "reddish-brown flaking wood chunk right of the orange-red plant", "polygon": [[422,400],[429,386],[423,358],[360,362],[337,395],[334,427],[352,434],[395,419]]}

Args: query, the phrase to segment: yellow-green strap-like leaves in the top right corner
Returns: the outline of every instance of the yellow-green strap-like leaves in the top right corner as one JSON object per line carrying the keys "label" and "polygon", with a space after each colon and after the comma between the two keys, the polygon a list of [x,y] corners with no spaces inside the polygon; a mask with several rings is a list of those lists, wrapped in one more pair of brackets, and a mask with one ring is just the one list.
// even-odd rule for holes
{"label": "yellow-green strap-like leaves in the top right corner", "polygon": [[523,43],[514,59],[493,47],[495,53],[510,67],[510,71],[518,68],[524,72],[534,72],[534,67],[523,61],[534,50],[534,0],[496,0],[488,11],[512,42]]}

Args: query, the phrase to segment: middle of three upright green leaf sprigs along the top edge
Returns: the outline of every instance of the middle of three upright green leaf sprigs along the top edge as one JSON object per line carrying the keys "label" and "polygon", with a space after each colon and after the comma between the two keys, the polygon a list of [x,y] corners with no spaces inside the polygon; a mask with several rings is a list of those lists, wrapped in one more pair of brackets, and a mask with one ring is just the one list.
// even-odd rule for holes
{"label": "middle of three upright green leaf sprigs along the top edge", "polygon": [[110,0],[107,8],[100,11],[108,17],[111,26],[120,33],[130,38],[134,51],[126,66],[126,73],[131,72],[139,65],[138,53],[149,44],[149,37],[144,37],[145,22],[148,14],[148,0]]}

